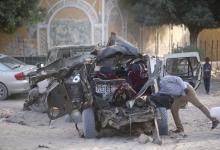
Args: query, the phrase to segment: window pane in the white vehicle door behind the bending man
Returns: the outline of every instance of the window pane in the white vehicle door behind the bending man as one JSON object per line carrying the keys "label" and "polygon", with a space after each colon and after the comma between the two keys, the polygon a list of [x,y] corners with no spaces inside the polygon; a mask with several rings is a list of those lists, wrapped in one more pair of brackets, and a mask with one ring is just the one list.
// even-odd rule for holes
{"label": "window pane in the white vehicle door behind the bending man", "polygon": [[199,62],[196,57],[168,58],[166,60],[166,71],[171,75],[193,76],[198,65]]}

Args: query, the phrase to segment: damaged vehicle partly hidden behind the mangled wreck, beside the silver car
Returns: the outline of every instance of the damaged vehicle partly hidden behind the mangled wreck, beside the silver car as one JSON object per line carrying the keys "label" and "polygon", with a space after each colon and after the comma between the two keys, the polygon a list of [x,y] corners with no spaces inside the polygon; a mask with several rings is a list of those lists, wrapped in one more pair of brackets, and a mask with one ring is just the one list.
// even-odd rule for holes
{"label": "damaged vehicle partly hidden behind the mangled wreck, beside the silver car", "polygon": [[[36,112],[47,112],[47,90],[50,88],[53,79],[46,76],[50,72],[54,72],[63,66],[61,60],[73,56],[86,55],[94,50],[94,45],[84,46],[56,46],[49,49],[47,62],[44,67],[40,67],[37,71],[27,75],[30,82],[31,90],[28,93],[28,98],[24,103],[24,110],[33,110]],[[42,76],[38,79],[35,76]]]}

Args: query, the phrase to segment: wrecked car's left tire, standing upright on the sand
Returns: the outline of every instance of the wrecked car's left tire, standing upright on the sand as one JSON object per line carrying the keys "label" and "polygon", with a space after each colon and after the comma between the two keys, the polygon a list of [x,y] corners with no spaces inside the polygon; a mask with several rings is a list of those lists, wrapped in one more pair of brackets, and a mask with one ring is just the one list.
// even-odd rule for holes
{"label": "wrecked car's left tire, standing upright on the sand", "polygon": [[83,134],[85,138],[96,137],[95,115],[92,108],[87,108],[82,112]]}

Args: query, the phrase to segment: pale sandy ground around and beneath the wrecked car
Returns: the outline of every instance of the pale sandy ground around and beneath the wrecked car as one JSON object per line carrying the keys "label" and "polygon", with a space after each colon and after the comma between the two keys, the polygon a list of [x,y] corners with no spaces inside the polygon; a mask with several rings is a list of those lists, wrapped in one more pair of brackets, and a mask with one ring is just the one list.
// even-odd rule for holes
{"label": "pale sandy ground around and beneath the wrecked car", "polygon": [[[212,93],[199,98],[209,108],[220,106],[220,81],[212,84]],[[161,146],[152,143],[139,144],[137,137],[113,136],[86,140],[78,136],[73,123],[64,118],[49,126],[46,114],[21,111],[22,96],[0,101],[0,150],[219,150],[220,126],[210,130],[211,122],[194,106],[189,104],[180,111],[187,137],[175,134],[162,137]],[[7,118],[7,119],[6,119]],[[9,120],[9,122],[7,121]],[[174,129],[169,113],[169,128]]]}

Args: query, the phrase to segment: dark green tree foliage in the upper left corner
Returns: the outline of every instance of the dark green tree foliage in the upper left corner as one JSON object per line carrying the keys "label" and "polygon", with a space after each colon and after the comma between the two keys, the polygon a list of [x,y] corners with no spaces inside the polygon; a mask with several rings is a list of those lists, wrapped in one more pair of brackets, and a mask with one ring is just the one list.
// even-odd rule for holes
{"label": "dark green tree foliage in the upper left corner", "polygon": [[0,32],[13,33],[23,25],[41,21],[45,10],[38,4],[39,0],[1,0]]}

